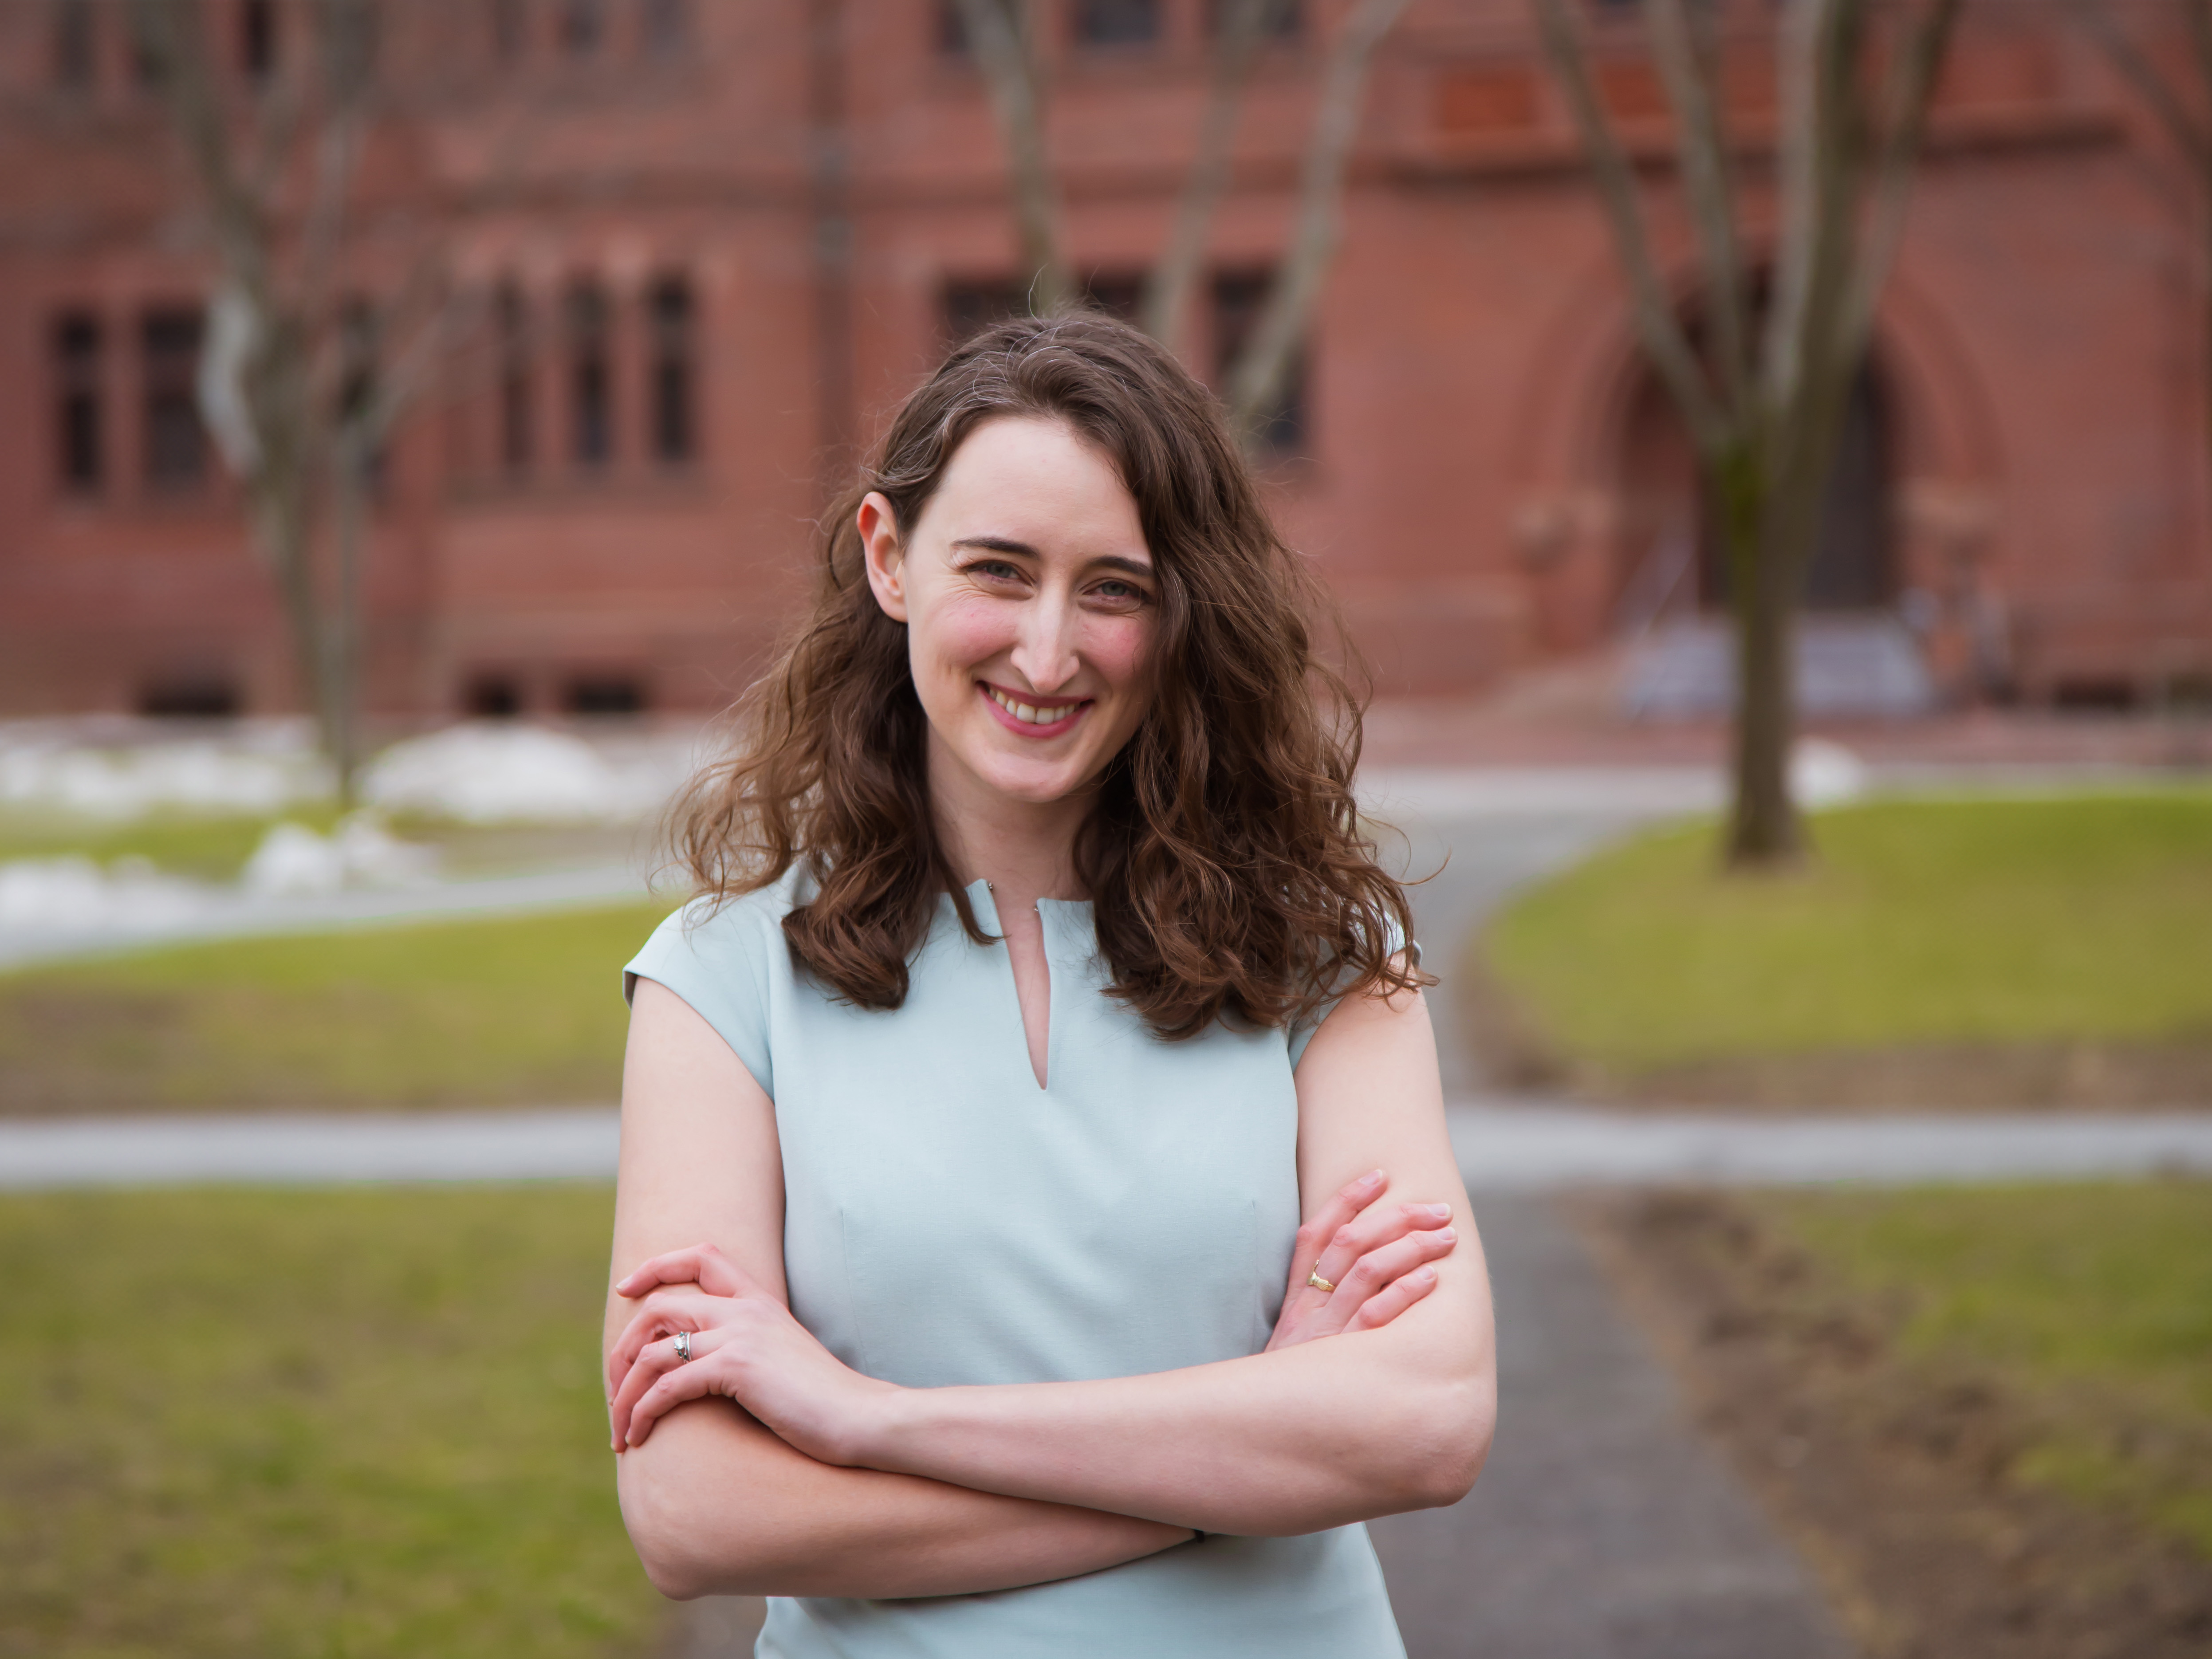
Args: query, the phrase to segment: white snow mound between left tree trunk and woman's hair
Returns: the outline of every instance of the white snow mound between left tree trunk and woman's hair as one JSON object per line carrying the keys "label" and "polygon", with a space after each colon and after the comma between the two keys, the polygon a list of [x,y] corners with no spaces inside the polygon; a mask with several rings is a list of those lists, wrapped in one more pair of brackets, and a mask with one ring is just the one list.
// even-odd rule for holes
{"label": "white snow mound between left tree trunk and woman's hair", "polygon": [[542,726],[449,726],[378,754],[361,799],[462,823],[593,823],[655,812],[681,774],[657,752],[608,754]]}

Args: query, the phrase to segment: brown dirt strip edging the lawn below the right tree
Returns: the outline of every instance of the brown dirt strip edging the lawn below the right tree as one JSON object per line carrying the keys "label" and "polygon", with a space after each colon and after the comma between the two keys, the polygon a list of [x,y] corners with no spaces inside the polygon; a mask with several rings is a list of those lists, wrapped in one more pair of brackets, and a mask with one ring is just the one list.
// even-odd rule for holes
{"label": "brown dirt strip edging the lawn below the right tree", "polygon": [[1453,993],[1484,1082],[1608,1106],[1743,1113],[1989,1113],[2212,1108],[2212,1040],[1953,1042],[1736,1055],[1621,1073],[1566,1055],[1495,973]]}

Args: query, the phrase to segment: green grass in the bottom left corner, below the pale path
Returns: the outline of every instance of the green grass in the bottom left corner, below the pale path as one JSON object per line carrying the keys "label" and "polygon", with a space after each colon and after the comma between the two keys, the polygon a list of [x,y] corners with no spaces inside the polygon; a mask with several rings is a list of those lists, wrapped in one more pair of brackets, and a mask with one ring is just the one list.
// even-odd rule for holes
{"label": "green grass in the bottom left corner, below the pale path", "polygon": [[0,1655],[646,1650],[597,1380],[611,1210],[0,1201]]}

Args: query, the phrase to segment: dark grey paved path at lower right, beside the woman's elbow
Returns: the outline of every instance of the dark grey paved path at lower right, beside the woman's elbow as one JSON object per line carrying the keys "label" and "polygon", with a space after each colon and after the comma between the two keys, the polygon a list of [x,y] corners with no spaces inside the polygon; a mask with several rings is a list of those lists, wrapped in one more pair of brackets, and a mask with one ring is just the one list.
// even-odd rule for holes
{"label": "dark grey paved path at lower right, beside the woman's elbow", "polygon": [[1533,1197],[1475,1210],[1498,1442],[1464,1502],[1371,1524],[1409,1659],[1840,1659],[1566,1223]]}

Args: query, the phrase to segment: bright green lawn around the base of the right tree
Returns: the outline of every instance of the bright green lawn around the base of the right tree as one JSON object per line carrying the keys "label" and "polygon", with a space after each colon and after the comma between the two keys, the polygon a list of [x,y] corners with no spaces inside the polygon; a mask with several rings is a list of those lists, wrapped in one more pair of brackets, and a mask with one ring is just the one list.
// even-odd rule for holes
{"label": "bright green lawn around the base of the right tree", "polygon": [[1823,814],[1801,874],[1725,878],[1710,825],[1599,854],[1482,949],[1619,1071],[1942,1042],[2212,1037],[2212,792]]}

